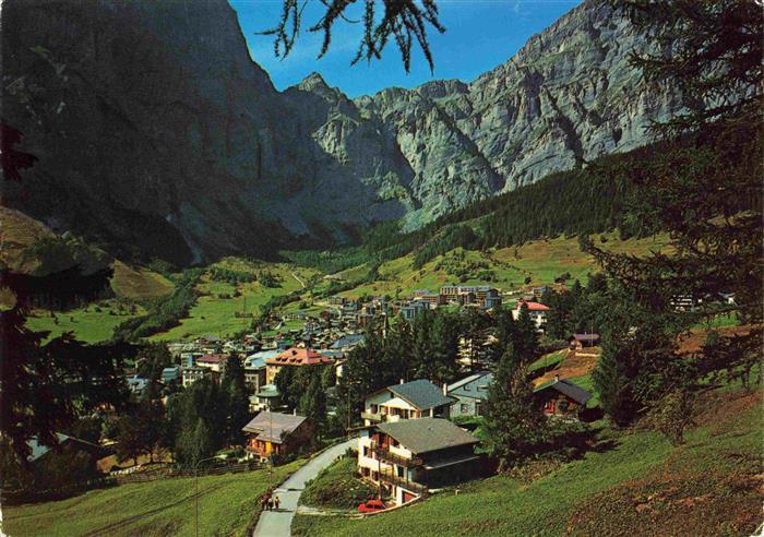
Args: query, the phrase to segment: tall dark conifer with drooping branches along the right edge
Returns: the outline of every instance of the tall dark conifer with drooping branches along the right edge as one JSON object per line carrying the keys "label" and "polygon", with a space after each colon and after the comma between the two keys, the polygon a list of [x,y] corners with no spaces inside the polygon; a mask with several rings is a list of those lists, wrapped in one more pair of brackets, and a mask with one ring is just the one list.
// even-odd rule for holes
{"label": "tall dark conifer with drooping branches along the right edge", "polygon": [[[667,405],[687,409],[699,381],[719,370],[747,381],[761,356],[761,8],[744,0],[617,4],[671,44],[670,55],[634,61],[648,80],[678,84],[688,111],[656,126],[666,136],[684,135],[654,145],[653,166],[623,170],[635,186],[625,220],[667,231],[670,248],[637,258],[586,242],[617,289],[613,303],[631,310],[606,334],[594,380],[614,421],[649,411],[678,443],[687,416],[668,419]],[[679,301],[694,311],[679,311]],[[742,329],[714,330],[720,313]],[[679,338],[699,325],[706,344],[680,355]]]}

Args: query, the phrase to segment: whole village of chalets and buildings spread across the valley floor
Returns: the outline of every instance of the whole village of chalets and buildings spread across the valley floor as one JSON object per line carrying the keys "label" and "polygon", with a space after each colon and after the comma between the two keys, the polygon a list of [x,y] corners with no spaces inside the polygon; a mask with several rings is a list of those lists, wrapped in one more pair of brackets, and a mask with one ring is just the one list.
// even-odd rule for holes
{"label": "whole village of chalets and buildings spread across the valley floor", "polygon": [[[540,302],[549,287],[528,289],[511,297],[511,317],[517,322],[527,315],[538,336],[544,335],[550,308]],[[318,441],[317,420],[298,414],[279,392],[277,379],[284,370],[330,370],[325,410],[336,415],[336,384],[342,381],[348,355],[362,345],[372,327],[413,322],[418,315],[441,308],[492,315],[503,311],[502,294],[490,286],[442,286],[438,293],[416,290],[408,299],[384,297],[353,300],[331,297],[318,315],[302,312],[273,313],[275,330],[261,330],[241,338],[222,339],[214,335],[193,342],[168,343],[174,365],[162,370],[158,384],[166,393],[184,390],[206,379],[219,383],[231,355],[241,357],[247,386],[248,409],[252,416],[240,423],[246,437],[241,461],[267,467],[275,461],[290,461],[320,450],[333,439]],[[287,323],[299,329],[279,331]],[[266,326],[268,327],[268,326]],[[490,475],[491,463],[476,450],[480,439],[474,432],[485,415],[493,374],[486,354],[497,337],[484,331],[479,342],[462,336],[458,341],[459,377],[453,382],[432,379],[401,379],[372,393],[360,403],[361,411],[348,418],[337,440],[357,437],[356,475],[377,487],[377,494],[359,505],[362,512],[377,512],[426,497],[429,491]],[[597,334],[571,334],[562,354],[568,362],[583,359],[586,370],[596,363]],[[476,348],[477,347],[477,348]],[[587,353],[588,348],[593,351]],[[535,373],[534,399],[549,419],[589,419],[587,403],[593,394],[561,377],[561,361]],[[138,365],[136,365],[138,366]],[[140,397],[151,380],[132,373],[127,378],[133,395]],[[167,401],[165,397],[164,401]],[[587,418],[587,413],[590,415]],[[351,421],[351,422],[350,422]],[[117,470],[122,472],[122,470]]]}

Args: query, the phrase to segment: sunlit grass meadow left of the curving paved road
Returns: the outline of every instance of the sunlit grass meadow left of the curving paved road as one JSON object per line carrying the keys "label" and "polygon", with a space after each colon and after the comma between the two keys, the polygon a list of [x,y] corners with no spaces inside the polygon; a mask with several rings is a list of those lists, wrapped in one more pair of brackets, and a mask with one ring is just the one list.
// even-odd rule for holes
{"label": "sunlit grass meadow left of the curving paved road", "polygon": [[[277,467],[274,482],[305,460]],[[256,470],[199,478],[199,535],[247,535],[260,514],[256,499],[267,488],[267,473]],[[102,490],[67,500],[3,506],[2,530],[11,536],[194,534],[193,478],[160,479]]]}

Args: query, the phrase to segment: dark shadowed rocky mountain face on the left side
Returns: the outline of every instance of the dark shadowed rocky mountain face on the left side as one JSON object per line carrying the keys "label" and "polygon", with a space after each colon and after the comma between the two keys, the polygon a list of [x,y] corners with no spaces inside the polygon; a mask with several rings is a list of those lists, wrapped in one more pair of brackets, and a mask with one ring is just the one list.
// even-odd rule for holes
{"label": "dark shadowed rocky mountain face on the left side", "polygon": [[408,210],[394,139],[339,96],[318,126],[317,87],[276,92],[224,0],[9,0],[2,17],[3,122],[38,158],[3,204],[53,228],[188,263]]}

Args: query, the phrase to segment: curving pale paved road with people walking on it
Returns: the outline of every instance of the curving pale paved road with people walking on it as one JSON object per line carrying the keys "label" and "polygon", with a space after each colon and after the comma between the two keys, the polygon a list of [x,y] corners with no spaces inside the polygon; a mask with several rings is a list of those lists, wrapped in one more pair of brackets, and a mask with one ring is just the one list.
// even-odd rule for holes
{"label": "curving pale paved road with people walking on it", "polygon": [[334,445],[311,460],[308,464],[295,472],[289,479],[284,481],[275,491],[280,500],[278,511],[263,511],[260,514],[258,525],[254,527],[253,537],[289,537],[291,535],[291,520],[297,511],[297,502],[306,487],[306,482],[313,479],[319,473],[351,445],[357,445],[358,439],[353,438]]}

